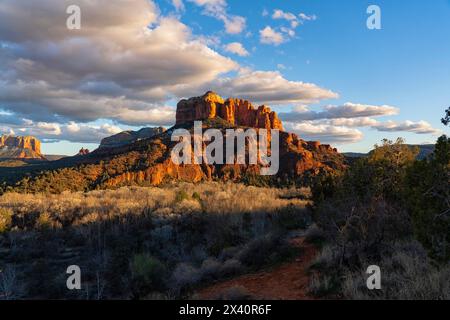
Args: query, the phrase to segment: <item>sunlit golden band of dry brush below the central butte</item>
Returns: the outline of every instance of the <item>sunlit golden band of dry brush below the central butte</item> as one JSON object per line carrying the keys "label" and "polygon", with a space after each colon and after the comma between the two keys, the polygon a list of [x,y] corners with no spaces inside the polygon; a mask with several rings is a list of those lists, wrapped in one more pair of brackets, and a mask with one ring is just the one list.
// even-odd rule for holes
{"label": "sunlit golden band of dry brush below the central butte", "polygon": [[[7,193],[0,197],[0,208],[19,216],[38,214],[46,223],[57,218],[70,218],[72,225],[82,225],[122,215],[139,215],[144,209],[165,217],[202,211],[230,215],[271,213],[288,206],[301,209],[308,204],[299,199],[305,195],[308,195],[307,189],[181,183],[165,188],[130,187],[56,195]],[[57,227],[57,224],[53,226]]]}

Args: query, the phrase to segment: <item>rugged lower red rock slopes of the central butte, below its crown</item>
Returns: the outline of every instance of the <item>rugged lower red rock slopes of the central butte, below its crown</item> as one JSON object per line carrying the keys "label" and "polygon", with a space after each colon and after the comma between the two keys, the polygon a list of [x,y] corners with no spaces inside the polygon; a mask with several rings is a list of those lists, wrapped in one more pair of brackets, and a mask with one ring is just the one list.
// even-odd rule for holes
{"label": "rugged lower red rock slopes of the central butte, below its crown", "polygon": [[[215,128],[222,129],[220,127]],[[207,130],[208,127],[203,129]],[[223,133],[225,134],[225,132]],[[127,163],[130,163],[130,160],[133,159],[133,163],[149,161],[151,164],[144,169],[139,168],[111,176],[105,181],[105,185],[107,187],[133,184],[157,186],[167,180],[194,183],[210,180],[239,182],[249,177],[249,175],[259,176],[260,174],[261,167],[259,165],[175,165],[170,159],[170,152],[173,146],[173,142],[170,142],[169,134],[150,140],[149,144],[145,145],[146,148],[141,144],[130,146],[133,152],[135,152],[136,148],[139,150],[150,149],[152,154],[143,155],[139,151],[133,157],[128,157]],[[203,148],[205,147],[206,143],[203,144]],[[191,152],[193,153],[194,151],[191,150]],[[119,158],[115,157],[114,159],[118,161]],[[138,160],[139,158],[141,160]],[[246,158],[248,158],[248,154]],[[125,162],[125,160],[121,160],[121,162]],[[343,157],[336,149],[328,145],[304,141],[293,133],[280,132],[280,169],[278,177],[297,179],[315,176],[324,171],[342,170],[343,168]]]}

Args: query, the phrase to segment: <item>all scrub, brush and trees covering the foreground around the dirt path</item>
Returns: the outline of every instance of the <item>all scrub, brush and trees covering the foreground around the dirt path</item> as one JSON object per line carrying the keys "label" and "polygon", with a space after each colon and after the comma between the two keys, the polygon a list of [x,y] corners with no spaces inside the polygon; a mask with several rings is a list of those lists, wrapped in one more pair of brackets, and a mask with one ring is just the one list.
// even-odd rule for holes
{"label": "all scrub, brush and trees covering the foreground around the dirt path", "polygon": [[[309,188],[210,182],[0,196],[0,299],[180,299],[296,255],[289,230],[320,248],[311,295],[450,299],[450,139],[416,160],[383,141]],[[79,265],[82,290],[66,288]],[[382,290],[367,289],[370,265]],[[247,297],[230,288],[221,298]]]}

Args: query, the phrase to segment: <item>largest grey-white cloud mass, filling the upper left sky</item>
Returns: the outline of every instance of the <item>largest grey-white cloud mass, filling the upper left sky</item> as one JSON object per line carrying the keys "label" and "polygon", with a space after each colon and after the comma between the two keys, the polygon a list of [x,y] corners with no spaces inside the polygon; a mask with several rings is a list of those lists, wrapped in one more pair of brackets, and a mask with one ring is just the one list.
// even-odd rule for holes
{"label": "largest grey-white cloud mass, filling the upper left sky", "polygon": [[[66,28],[69,4],[81,30]],[[1,108],[39,122],[169,124],[173,88],[239,68],[147,0],[4,0],[0,41]]]}

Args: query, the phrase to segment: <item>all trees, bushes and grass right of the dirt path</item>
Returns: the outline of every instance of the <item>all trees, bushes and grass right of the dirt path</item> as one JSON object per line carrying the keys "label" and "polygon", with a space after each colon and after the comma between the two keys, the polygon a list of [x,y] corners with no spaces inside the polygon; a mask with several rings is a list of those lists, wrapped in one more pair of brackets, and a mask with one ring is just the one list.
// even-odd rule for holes
{"label": "all trees, bushes and grass right of the dirt path", "polygon": [[[311,266],[311,292],[347,299],[450,299],[450,139],[415,160],[401,139],[313,188],[309,239],[324,247]],[[365,271],[382,270],[369,291]]]}

